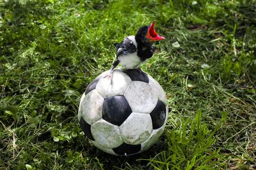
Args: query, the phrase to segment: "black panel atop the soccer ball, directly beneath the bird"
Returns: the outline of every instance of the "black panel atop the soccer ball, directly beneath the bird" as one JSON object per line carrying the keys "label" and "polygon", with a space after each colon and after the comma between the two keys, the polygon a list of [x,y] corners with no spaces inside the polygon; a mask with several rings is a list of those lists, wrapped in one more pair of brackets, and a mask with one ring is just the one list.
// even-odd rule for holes
{"label": "black panel atop the soccer ball, directly beneath the bird", "polygon": [[125,74],[127,74],[132,81],[143,81],[145,83],[148,83],[148,75],[139,69],[127,69],[124,71]]}

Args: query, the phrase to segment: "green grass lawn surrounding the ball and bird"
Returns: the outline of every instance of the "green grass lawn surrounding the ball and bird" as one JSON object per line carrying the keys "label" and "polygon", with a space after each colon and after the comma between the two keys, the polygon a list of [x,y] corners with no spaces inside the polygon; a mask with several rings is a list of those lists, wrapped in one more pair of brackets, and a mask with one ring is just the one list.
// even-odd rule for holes
{"label": "green grass lawn surrounding the ball and bird", "polygon": [[[256,1],[0,1],[0,169],[256,169]],[[114,42],[156,20],[143,70],[170,113],[131,157],[84,137],[77,105]]]}

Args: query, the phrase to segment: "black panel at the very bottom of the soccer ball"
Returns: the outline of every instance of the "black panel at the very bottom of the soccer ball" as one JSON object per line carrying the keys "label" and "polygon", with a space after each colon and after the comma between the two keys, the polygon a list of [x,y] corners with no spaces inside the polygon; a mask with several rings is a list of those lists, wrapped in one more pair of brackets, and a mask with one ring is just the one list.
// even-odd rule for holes
{"label": "black panel at the very bottom of the soccer ball", "polygon": [[141,145],[130,145],[127,143],[123,143],[117,148],[113,148],[113,151],[118,155],[132,155],[134,153],[140,152]]}

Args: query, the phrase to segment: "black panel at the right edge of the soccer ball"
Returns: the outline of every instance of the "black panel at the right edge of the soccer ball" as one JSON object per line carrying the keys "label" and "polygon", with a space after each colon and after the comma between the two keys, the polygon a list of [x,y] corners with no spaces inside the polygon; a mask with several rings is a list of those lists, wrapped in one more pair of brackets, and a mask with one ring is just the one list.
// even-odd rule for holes
{"label": "black panel at the right edge of the soccer ball", "polygon": [[156,107],[150,113],[152,119],[153,129],[158,129],[164,124],[166,118],[166,106],[163,101],[157,101]]}

